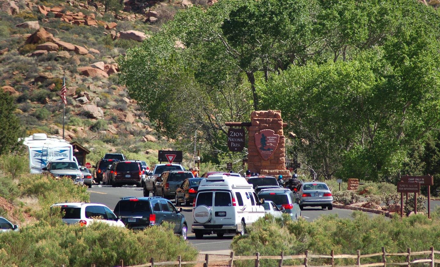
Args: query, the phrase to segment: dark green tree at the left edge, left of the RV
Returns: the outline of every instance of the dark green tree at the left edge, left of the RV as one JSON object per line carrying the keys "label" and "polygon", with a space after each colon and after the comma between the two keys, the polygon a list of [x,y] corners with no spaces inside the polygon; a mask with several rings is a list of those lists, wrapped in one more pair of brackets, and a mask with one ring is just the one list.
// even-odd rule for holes
{"label": "dark green tree at the left edge, left of the RV", "polygon": [[0,155],[13,151],[18,146],[20,122],[14,114],[14,98],[0,91]]}

